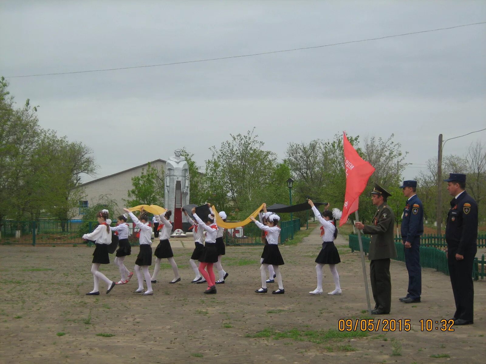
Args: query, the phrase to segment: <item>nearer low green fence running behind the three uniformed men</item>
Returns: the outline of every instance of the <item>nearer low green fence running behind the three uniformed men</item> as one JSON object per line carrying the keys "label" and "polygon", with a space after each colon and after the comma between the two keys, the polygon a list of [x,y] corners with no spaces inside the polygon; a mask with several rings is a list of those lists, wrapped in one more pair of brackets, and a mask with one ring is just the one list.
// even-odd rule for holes
{"label": "nearer low green fence running behind the three uniformed men", "polygon": [[[366,255],[369,252],[370,238],[366,235],[362,235],[363,251]],[[349,248],[351,251],[359,251],[360,244],[358,240],[358,235],[349,234]],[[397,258],[395,260],[399,262],[405,262],[405,253],[401,239],[397,241],[395,239],[395,248],[397,249]],[[433,268],[439,272],[449,275],[449,265],[447,264],[446,252],[434,247],[424,247],[422,246],[422,241],[420,242],[420,266],[423,268]],[[481,266],[481,268],[479,268]],[[484,279],[485,274],[485,256],[483,254],[482,260],[474,258],[472,276],[475,281],[480,277]]]}

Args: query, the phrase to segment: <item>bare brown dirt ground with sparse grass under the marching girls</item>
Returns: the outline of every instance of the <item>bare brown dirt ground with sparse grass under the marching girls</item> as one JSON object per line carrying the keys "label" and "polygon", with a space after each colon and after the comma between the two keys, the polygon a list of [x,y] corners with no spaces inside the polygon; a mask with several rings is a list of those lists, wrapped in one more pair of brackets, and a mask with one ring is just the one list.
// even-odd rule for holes
{"label": "bare brown dirt ground with sparse grass under the marching girls", "polygon": [[[318,229],[297,246],[282,246],[285,294],[272,295],[274,283],[258,295],[262,247],[227,248],[229,277],[207,296],[204,285],[190,283],[191,249],[174,248],[182,281],[168,284],[173,273],[163,264],[154,296],[143,297],[132,293],[135,276],[109,295],[100,282],[100,296],[85,296],[93,248],[0,246],[0,363],[484,363],[485,281],[474,283],[474,325],[443,332],[435,321],[454,312],[448,276],[423,269],[422,302],[403,304],[407,271],[392,261],[392,312],[371,317],[359,253],[341,237],[343,294],[309,295],[319,249]],[[101,270],[120,279],[115,265]],[[325,273],[324,293],[334,288],[327,267]],[[340,319],[384,318],[410,319],[411,330],[338,330]],[[421,331],[420,319],[431,319],[432,331]]]}

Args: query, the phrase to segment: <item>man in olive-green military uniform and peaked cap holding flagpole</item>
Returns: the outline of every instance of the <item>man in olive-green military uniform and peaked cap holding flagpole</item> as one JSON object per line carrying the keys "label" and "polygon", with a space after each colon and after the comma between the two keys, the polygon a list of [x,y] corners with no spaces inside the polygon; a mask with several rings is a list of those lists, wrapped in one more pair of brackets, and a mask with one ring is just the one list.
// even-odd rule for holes
{"label": "man in olive-green military uniform and peaked cap holding flagpole", "polygon": [[386,204],[391,194],[375,183],[371,192],[371,201],[377,207],[372,225],[355,222],[354,226],[371,235],[368,259],[371,289],[375,299],[375,309],[371,314],[389,314],[392,304],[392,283],[390,277],[390,258],[397,257],[393,232],[393,211]]}

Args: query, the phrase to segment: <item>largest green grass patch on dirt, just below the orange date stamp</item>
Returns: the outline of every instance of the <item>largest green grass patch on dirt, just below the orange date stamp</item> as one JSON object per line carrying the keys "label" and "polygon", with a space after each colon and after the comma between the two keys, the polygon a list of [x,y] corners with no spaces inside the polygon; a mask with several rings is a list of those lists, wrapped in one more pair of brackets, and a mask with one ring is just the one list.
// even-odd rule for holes
{"label": "largest green grass patch on dirt, just below the orange date stamp", "polygon": [[322,344],[328,340],[351,339],[354,337],[367,336],[366,331],[337,331],[335,329],[329,330],[299,330],[291,329],[284,331],[276,331],[275,329],[265,328],[262,331],[253,334],[246,334],[245,337],[258,338],[267,337],[274,340],[292,339],[296,341],[310,341],[314,344]]}

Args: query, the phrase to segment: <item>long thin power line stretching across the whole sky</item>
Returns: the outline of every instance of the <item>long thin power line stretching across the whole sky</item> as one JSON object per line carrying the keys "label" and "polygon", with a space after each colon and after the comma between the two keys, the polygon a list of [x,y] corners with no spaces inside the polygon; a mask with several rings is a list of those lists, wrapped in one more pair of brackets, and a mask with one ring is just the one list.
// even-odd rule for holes
{"label": "long thin power line stretching across the whole sky", "polygon": [[73,71],[73,72],[41,73],[41,74],[23,75],[23,76],[5,76],[5,78],[37,77],[37,76],[52,76],[52,75],[68,75],[68,74],[73,74],[73,73],[103,72],[103,71],[116,71],[116,70],[120,70],[120,69],[131,69],[131,68],[146,68],[146,67],[159,67],[159,66],[182,65],[182,64],[186,64],[186,63],[208,62],[208,61],[217,61],[217,60],[229,59],[229,58],[252,57],[252,56],[260,56],[260,55],[263,55],[263,54],[292,52],[292,51],[295,51],[295,50],[310,50],[310,49],[315,49],[315,48],[338,46],[338,45],[342,45],[342,44],[359,43],[359,42],[367,42],[367,41],[370,41],[370,40],[379,40],[379,39],[385,39],[385,38],[393,38],[393,37],[399,37],[399,36],[404,36],[404,35],[419,34],[419,33],[428,33],[428,32],[436,32],[436,31],[441,31],[441,30],[448,30],[448,29],[454,29],[454,28],[460,28],[460,27],[468,27],[470,25],[479,25],[479,24],[486,24],[486,21],[482,21],[482,22],[479,22],[479,23],[470,23],[470,24],[456,25],[456,26],[447,27],[447,28],[430,29],[430,30],[425,30],[425,31],[420,31],[420,32],[410,32],[410,33],[403,33],[403,34],[387,35],[387,36],[382,36],[382,37],[378,37],[378,38],[368,38],[368,39],[360,39],[360,40],[351,40],[351,41],[341,42],[341,43],[325,44],[325,45],[322,45],[322,46],[294,48],[294,49],[291,49],[291,50],[274,50],[274,51],[269,51],[269,52],[252,53],[252,54],[242,54],[242,55],[238,55],[238,56],[228,56],[228,57],[219,57],[219,58],[200,59],[200,60],[195,60],[195,61],[183,61],[183,62],[162,63],[162,64],[159,64],[159,65],[131,66],[131,67],[104,68],[104,69],[91,69],[91,70],[87,70],[87,71]]}

